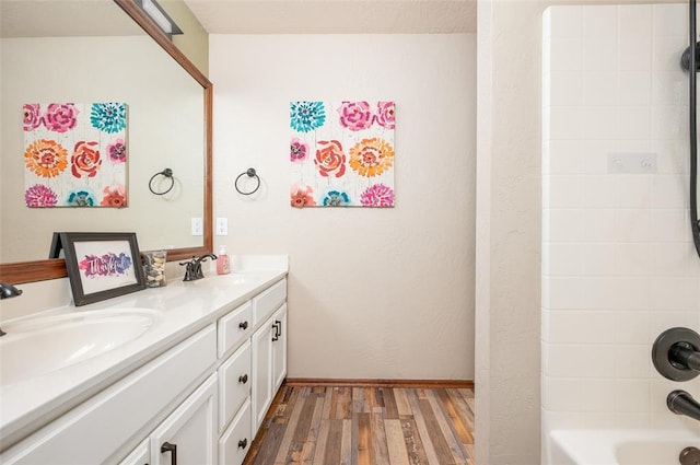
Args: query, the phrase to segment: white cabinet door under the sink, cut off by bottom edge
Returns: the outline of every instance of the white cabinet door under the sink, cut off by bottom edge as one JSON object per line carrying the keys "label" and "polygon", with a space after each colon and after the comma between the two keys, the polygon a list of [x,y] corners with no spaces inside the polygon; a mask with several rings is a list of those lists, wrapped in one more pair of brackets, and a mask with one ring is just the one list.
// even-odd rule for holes
{"label": "white cabinet door under the sink, cut off by bottom edge", "polygon": [[217,387],[214,373],[153,431],[152,465],[215,463]]}

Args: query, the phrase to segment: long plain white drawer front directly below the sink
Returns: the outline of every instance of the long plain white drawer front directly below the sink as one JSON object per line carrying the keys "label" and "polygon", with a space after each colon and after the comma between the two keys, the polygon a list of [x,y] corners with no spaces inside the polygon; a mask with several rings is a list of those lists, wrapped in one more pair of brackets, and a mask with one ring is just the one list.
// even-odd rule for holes
{"label": "long plain white drawer front directly below the sink", "polygon": [[19,442],[0,463],[105,463],[215,361],[212,324]]}

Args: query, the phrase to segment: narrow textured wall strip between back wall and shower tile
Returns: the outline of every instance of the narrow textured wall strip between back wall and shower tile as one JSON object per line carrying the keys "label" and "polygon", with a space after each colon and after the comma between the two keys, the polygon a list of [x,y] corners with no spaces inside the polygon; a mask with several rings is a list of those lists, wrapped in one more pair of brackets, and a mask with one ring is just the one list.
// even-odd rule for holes
{"label": "narrow textured wall strip between back wall and shower tile", "polygon": [[477,10],[485,128],[478,131],[477,462],[534,465],[540,462],[542,5],[483,0]]}

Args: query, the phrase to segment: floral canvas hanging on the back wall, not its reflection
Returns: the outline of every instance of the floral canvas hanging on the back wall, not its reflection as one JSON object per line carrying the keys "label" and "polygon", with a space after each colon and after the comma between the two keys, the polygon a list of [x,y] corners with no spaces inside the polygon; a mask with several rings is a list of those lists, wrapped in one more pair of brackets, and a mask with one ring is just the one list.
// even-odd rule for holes
{"label": "floral canvas hanging on the back wall, not its reflection", "polygon": [[291,102],[292,207],[394,207],[394,102]]}

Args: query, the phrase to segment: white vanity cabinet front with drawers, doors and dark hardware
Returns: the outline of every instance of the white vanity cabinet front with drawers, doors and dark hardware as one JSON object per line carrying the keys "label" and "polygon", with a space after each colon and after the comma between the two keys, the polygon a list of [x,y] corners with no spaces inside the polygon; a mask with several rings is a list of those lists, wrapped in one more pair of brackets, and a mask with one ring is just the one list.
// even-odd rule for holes
{"label": "white vanity cabinet front with drawers, doors and dark hardware", "polygon": [[0,454],[12,464],[240,465],[287,375],[287,280]]}

